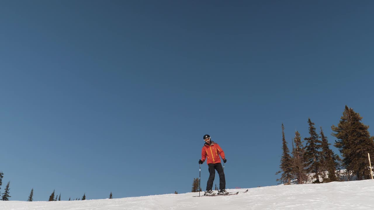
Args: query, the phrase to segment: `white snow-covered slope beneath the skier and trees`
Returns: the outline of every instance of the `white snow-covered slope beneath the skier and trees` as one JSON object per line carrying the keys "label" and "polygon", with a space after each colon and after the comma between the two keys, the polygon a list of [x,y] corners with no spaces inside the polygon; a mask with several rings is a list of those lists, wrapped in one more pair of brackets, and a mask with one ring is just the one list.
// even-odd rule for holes
{"label": "white snow-covered slope beneath the skier and trees", "polygon": [[193,195],[199,193],[85,201],[0,201],[0,210],[374,209],[374,180],[249,188],[246,194],[221,197]]}

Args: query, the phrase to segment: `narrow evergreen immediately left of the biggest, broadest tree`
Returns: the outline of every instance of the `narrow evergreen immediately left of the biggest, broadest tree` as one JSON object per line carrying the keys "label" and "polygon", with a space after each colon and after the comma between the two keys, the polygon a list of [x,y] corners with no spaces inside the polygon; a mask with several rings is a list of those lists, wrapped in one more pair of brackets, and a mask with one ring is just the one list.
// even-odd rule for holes
{"label": "narrow evergreen immediately left of the biggest, broadest tree", "polygon": [[321,146],[322,146],[322,158],[321,164],[322,169],[328,172],[328,178],[324,182],[336,182],[338,179],[335,175],[335,170],[338,167],[337,160],[335,158],[334,152],[329,148],[331,143],[328,143],[327,137],[325,136],[322,127],[321,129]]}

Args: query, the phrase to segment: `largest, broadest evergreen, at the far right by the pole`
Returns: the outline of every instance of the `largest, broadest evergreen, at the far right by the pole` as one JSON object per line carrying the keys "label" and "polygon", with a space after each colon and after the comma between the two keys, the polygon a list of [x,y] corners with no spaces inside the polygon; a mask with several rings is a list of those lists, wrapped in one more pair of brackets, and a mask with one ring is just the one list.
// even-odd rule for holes
{"label": "largest, broadest evergreen, at the far right by the pole", "polygon": [[368,153],[374,154],[374,137],[369,126],[361,122],[362,117],[352,108],[345,106],[338,126],[331,126],[335,136],[335,147],[343,157],[343,167],[357,176],[357,180],[370,179]]}

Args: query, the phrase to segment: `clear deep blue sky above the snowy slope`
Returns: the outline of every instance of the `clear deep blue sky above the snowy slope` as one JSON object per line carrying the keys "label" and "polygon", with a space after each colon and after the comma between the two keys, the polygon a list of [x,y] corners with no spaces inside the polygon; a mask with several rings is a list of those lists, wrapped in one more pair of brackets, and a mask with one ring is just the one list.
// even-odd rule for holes
{"label": "clear deep blue sky above the snowy slope", "polygon": [[204,134],[227,188],[276,185],[282,123],[290,148],[308,117],[334,143],[345,105],[374,124],[373,6],[1,1],[1,192],[189,192]]}

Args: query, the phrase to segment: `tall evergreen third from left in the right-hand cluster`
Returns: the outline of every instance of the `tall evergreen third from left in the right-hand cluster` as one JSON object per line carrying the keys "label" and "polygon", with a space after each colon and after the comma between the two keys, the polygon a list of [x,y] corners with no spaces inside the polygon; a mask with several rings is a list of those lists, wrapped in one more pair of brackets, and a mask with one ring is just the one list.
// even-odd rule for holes
{"label": "tall evergreen third from left in the right-hand cluster", "polygon": [[313,183],[320,183],[319,175],[320,175],[320,167],[321,167],[321,140],[319,140],[319,136],[316,133],[316,128],[314,127],[314,123],[308,118],[309,124],[309,138],[304,138],[306,140],[306,150],[304,157],[307,161],[307,172],[314,173],[316,180]]}

